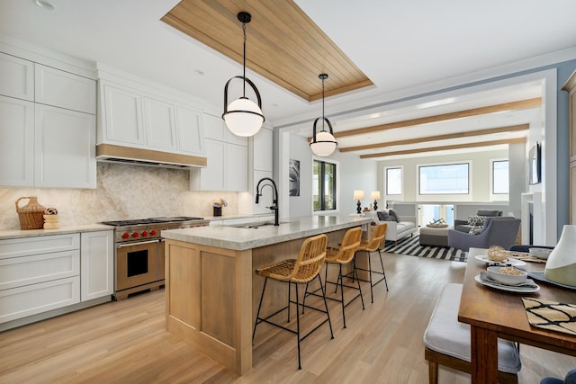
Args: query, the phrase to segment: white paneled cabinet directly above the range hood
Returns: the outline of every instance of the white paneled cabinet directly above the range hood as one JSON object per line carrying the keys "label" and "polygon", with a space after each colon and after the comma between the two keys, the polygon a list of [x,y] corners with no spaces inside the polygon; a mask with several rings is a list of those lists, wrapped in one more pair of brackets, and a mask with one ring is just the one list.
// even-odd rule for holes
{"label": "white paneled cabinet directly above the range hood", "polygon": [[204,156],[202,110],[129,79],[99,80],[98,144]]}

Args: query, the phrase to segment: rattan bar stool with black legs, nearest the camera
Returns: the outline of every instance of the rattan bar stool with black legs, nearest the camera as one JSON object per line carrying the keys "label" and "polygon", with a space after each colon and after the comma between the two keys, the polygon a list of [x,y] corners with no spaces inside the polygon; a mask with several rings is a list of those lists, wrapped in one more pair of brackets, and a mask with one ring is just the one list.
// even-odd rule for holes
{"label": "rattan bar stool with black legs, nearest the camera", "polygon": [[[334,333],[332,332],[332,323],[330,322],[330,314],[328,310],[328,303],[326,302],[326,295],[325,290],[322,285],[322,279],[320,278],[320,269],[322,268],[322,264],[324,264],[324,260],[326,258],[326,246],[328,245],[328,237],[326,235],[318,235],[315,237],[309,237],[304,240],[300,248],[300,253],[298,254],[297,259],[288,259],[283,260],[279,263],[274,263],[272,265],[267,265],[262,268],[258,268],[256,273],[260,276],[266,278],[264,281],[264,287],[262,288],[262,296],[260,297],[260,304],[258,305],[256,323],[254,324],[254,332],[252,333],[252,343],[254,343],[254,336],[256,335],[256,328],[260,323],[268,323],[272,326],[277,326],[279,328],[284,329],[298,337],[298,369],[302,370],[302,364],[300,359],[300,342],[304,340],[306,337],[311,335],[312,332],[320,328],[320,326],[324,325],[327,321],[330,327],[330,336],[333,339]],[[326,319],[323,320],[319,325],[315,326],[310,332],[306,335],[301,337],[300,335],[300,315],[299,315],[299,306],[300,306],[300,299],[298,298],[298,284],[306,283],[308,287],[308,283],[313,281],[314,279],[318,278],[320,281],[320,290],[322,290],[322,297],[324,298],[324,309],[314,308],[311,306],[306,306],[305,303],[302,302],[302,308],[304,306],[306,308],[311,308],[317,310],[319,312],[326,314]],[[273,279],[275,281],[283,281],[288,283],[288,305],[284,308],[278,309],[272,315],[267,317],[260,317],[260,309],[262,308],[262,299],[264,299],[264,292],[266,291],[266,282],[268,279]],[[295,285],[296,290],[296,300],[293,301],[290,296],[290,287],[292,284]],[[305,296],[304,292],[304,296]],[[274,317],[275,315],[279,314],[280,312],[287,310],[288,311],[288,322],[290,322],[290,305],[296,304],[296,331],[293,329],[288,328],[287,326],[281,326],[271,320],[270,317]]]}

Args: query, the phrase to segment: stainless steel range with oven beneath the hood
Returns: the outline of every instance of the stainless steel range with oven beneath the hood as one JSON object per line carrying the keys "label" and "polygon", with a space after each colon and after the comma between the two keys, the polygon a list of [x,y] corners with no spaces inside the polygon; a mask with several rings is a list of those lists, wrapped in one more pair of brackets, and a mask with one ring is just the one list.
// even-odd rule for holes
{"label": "stainless steel range with oven beneath the hood", "polygon": [[130,293],[156,290],[164,285],[165,229],[203,227],[209,220],[188,216],[103,221],[114,227],[116,252],[114,298],[126,299]]}

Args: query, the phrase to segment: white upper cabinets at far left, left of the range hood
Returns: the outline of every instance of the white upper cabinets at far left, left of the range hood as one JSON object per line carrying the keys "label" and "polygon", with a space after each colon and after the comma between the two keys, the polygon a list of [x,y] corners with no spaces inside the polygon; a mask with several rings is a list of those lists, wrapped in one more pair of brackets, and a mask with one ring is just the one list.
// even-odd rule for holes
{"label": "white upper cabinets at far left, left of the range hood", "polygon": [[95,188],[96,84],[0,53],[0,185]]}

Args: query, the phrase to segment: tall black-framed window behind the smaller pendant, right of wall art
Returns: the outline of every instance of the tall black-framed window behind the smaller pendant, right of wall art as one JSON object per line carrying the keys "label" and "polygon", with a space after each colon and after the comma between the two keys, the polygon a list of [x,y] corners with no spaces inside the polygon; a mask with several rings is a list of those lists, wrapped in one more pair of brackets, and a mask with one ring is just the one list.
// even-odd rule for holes
{"label": "tall black-framed window behind the smaller pendant, right of wall art", "polygon": [[312,170],[313,210],[336,210],[336,164],[314,160]]}

